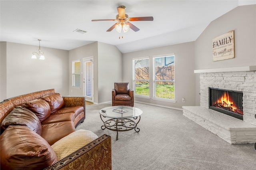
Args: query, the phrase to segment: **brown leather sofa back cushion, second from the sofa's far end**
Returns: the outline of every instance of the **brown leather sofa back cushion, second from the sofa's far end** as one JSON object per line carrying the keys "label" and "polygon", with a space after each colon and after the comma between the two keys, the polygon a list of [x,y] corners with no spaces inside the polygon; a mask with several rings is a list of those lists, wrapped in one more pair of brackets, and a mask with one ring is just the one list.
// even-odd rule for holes
{"label": "brown leather sofa back cushion, second from the sofa's far end", "polygon": [[40,122],[44,121],[51,114],[50,105],[43,99],[35,99],[32,101],[28,101],[22,105],[34,112],[36,116],[39,118]]}

